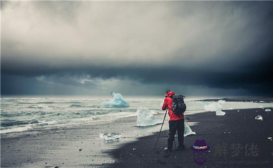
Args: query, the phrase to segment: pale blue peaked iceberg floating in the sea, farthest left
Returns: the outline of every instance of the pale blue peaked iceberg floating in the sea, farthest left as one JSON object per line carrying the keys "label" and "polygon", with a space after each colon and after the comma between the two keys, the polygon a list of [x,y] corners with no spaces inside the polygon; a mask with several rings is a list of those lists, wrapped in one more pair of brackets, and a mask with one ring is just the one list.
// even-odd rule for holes
{"label": "pale blue peaked iceberg floating in the sea, farthest left", "polygon": [[127,108],[129,104],[126,100],[122,98],[120,93],[112,92],[111,95],[114,97],[113,100],[109,102],[102,102],[102,106],[105,108]]}

